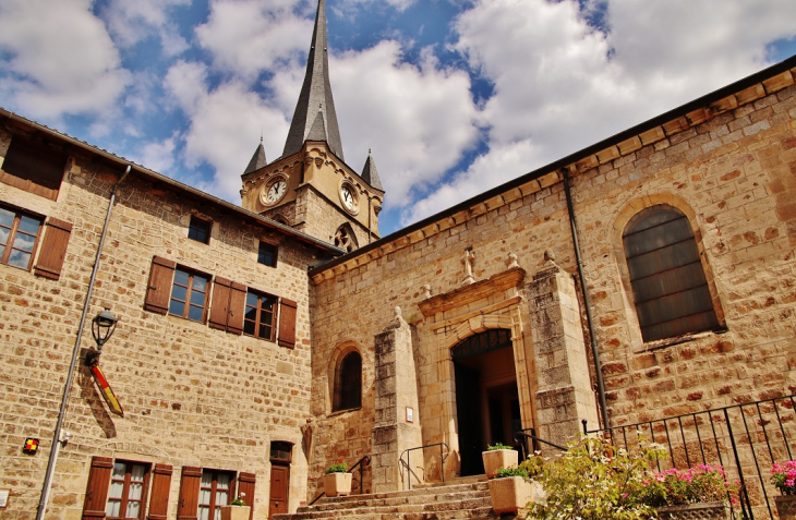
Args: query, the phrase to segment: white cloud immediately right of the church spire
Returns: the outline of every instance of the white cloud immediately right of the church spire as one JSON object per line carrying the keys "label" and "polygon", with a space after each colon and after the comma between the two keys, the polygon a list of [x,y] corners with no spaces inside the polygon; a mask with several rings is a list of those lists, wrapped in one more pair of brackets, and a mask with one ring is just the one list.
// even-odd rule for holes
{"label": "white cloud immediately right of the church spire", "polygon": [[330,69],[347,162],[360,171],[373,148],[389,206],[438,181],[478,138],[469,76],[430,52],[415,66],[401,62],[397,43],[382,41],[335,57]]}

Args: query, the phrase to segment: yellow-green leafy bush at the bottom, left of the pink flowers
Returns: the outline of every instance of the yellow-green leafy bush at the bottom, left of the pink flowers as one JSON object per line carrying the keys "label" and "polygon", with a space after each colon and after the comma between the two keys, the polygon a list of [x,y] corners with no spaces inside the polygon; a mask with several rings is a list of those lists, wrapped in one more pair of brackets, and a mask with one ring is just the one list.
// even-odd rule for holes
{"label": "yellow-green leafy bush at the bottom, left of the pink flowers", "polygon": [[655,511],[642,501],[654,446],[628,452],[604,438],[584,437],[570,444],[558,459],[544,464],[535,477],[546,494],[531,505],[530,518],[554,520],[646,520]]}

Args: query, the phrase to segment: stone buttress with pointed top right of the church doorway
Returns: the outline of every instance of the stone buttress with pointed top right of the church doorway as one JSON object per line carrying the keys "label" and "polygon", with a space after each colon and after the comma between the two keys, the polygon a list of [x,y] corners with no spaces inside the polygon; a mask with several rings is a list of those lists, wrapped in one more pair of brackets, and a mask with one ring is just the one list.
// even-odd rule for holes
{"label": "stone buttress with pointed top right of the church doorway", "polygon": [[536,435],[558,445],[578,438],[580,421],[598,423],[580,304],[572,277],[552,259],[529,285],[536,358]]}

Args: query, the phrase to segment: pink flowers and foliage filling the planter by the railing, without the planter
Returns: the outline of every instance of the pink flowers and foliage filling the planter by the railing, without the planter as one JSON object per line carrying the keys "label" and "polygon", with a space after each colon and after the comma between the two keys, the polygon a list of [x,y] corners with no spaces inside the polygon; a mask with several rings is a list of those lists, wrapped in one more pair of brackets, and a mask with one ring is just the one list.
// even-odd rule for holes
{"label": "pink flowers and foliage filling the planter by the railing, without the planter", "polygon": [[652,507],[725,501],[738,491],[737,484],[727,482],[721,465],[705,464],[662,471],[646,484],[643,501]]}

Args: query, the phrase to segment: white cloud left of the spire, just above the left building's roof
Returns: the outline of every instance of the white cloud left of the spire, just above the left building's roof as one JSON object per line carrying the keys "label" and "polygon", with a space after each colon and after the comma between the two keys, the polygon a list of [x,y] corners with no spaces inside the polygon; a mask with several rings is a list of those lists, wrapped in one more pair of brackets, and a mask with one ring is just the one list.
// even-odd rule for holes
{"label": "white cloud left of the spire, just above the left building's roof", "polygon": [[[270,160],[285,146],[288,121],[239,80],[215,88],[207,82],[207,66],[178,62],[166,75],[165,87],[174,97],[191,123],[182,134],[185,164],[195,168],[207,164],[215,169],[210,181],[200,188],[228,201],[239,201],[240,176],[264,132]],[[155,149],[157,152],[157,148]]]}

